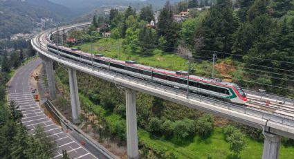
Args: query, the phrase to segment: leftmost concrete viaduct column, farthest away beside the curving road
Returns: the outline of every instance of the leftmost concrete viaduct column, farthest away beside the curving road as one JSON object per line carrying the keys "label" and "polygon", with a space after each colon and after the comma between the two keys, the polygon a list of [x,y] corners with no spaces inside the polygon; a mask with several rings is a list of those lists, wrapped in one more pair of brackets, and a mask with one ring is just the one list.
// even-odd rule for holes
{"label": "leftmost concrete viaduct column, farthest away beside the curving road", "polygon": [[49,95],[51,100],[56,99],[56,86],[55,86],[55,77],[53,71],[53,60],[48,58],[42,58],[43,64],[46,67],[46,75],[48,79],[48,88],[49,88]]}

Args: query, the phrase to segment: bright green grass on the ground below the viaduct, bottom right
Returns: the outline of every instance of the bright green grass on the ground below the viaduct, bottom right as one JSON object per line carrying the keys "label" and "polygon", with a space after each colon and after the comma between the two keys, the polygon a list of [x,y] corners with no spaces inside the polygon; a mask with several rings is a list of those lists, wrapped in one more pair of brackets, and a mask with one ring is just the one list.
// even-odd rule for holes
{"label": "bright green grass on the ground below the viaduct, bottom right", "polygon": [[[152,147],[165,147],[167,151],[172,151],[178,158],[234,158],[233,153],[229,151],[230,145],[224,140],[223,131],[220,128],[215,128],[214,133],[210,138],[199,138],[198,135],[189,140],[181,140],[181,145],[178,146],[178,141],[175,138],[163,140],[163,138],[154,138],[148,132],[138,130],[140,140],[152,145]],[[259,159],[262,156],[263,142],[257,142],[250,138],[246,138],[247,147],[241,151],[241,158]],[[294,156],[294,147],[284,147],[281,144],[279,158],[289,158]]]}

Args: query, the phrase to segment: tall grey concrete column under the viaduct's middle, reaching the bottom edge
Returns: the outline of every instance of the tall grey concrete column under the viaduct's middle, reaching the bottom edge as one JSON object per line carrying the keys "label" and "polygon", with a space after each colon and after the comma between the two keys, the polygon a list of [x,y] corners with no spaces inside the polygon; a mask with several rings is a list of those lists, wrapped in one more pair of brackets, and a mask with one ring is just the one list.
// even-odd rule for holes
{"label": "tall grey concrete column under the viaduct's middle, reaching the bottom edge", "polygon": [[128,159],[139,158],[137,113],[136,113],[136,91],[126,88],[127,107],[127,156]]}

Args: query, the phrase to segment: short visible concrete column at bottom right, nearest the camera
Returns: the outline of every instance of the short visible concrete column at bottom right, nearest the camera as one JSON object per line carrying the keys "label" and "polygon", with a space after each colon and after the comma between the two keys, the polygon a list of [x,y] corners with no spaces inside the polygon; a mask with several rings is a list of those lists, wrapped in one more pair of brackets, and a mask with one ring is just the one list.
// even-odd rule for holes
{"label": "short visible concrete column at bottom right, nearest the camera", "polygon": [[264,133],[264,152],[262,159],[277,159],[279,158],[279,144],[281,137],[271,133]]}

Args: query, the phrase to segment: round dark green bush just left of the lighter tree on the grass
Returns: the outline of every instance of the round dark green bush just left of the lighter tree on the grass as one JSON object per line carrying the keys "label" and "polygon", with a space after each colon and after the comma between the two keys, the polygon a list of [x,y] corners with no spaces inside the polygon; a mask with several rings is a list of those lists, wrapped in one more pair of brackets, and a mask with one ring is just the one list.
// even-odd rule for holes
{"label": "round dark green bush just left of the lighter tree on the grass", "polygon": [[203,115],[196,121],[196,131],[198,134],[205,138],[212,134],[213,131],[213,119],[210,115]]}

